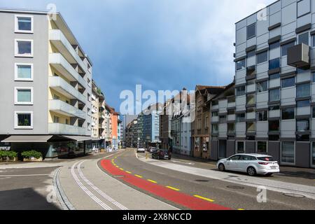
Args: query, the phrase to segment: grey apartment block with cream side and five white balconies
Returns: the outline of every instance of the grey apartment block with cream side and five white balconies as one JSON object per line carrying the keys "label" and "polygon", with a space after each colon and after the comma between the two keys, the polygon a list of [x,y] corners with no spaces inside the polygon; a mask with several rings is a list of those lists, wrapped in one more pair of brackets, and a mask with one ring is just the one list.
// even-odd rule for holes
{"label": "grey apartment block with cream side and five white balconies", "polygon": [[62,15],[0,9],[0,20],[2,144],[46,157],[90,151],[92,62]]}

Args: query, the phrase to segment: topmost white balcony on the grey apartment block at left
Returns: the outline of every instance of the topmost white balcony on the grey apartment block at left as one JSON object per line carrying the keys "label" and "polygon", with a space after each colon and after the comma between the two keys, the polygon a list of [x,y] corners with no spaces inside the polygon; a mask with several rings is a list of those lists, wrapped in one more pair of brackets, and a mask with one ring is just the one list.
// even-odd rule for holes
{"label": "topmost white balcony on the grey apartment block at left", "polygon": [[59,29],[50,29],[49,40],[55,45],[57,50],[64,55],[66,60],[70,64],[78,64],[87,73],[87,65],[84,64],[83,60],[79,57],[76,50],[73,49],[71,43],[66,39],[66,36],[62,34]]}

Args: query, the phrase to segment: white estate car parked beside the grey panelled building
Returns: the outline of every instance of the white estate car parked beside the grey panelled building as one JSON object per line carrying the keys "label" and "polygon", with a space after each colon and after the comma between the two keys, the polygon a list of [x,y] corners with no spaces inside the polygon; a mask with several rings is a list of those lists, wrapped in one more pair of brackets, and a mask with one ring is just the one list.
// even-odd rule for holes
{"label": "white estate car parked beside the grey panelled building", "polygon": [[280,172],[279,163],[270,155],[260,154],[237,154],[228,159],[220,160],[217,164],[221,172],[235,171],[244,172],[250,176],[262,174],[272,176]]}

